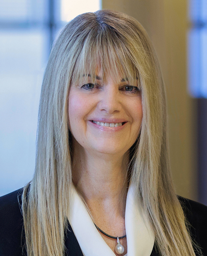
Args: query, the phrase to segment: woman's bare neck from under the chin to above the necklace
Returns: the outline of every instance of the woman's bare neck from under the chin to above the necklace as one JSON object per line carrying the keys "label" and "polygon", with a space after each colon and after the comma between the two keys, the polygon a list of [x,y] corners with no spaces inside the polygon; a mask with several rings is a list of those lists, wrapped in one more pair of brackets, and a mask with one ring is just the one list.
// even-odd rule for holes
{"label": "woman's bare neck from under the chin to above the necklace", "polygon": [[89,208],[108,202],[124,214],[128,185],[127,164],[128,153],[110,155],[89,152],[77,142],[74,143],[73,182]]}

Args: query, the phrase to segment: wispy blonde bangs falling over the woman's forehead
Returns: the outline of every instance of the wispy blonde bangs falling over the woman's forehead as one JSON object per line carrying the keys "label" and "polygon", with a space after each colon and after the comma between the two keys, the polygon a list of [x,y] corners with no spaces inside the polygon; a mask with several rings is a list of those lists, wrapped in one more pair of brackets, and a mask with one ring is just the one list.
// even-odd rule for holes
{"label": "wispy blonde bangs falling over the woman's forehead", "polygon": [[111,29],[99,29],[91,30],[84,38],[73,70],[72,83],[96,83],[97,78],[106,82],[110,77],[115,83],[124,80],[132,85],[138,84],[140,88],[139,71],[130,57],[132,54],[126,42],[120,40]]}

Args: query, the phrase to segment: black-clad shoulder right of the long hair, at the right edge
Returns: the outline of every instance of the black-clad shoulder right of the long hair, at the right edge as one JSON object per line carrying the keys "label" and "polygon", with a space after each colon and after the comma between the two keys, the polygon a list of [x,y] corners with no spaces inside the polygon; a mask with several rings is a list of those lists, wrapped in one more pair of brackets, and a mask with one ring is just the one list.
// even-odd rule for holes
{"label": "black-clad shoulder right of the long hair, at the right edge", "polygon": [[178,196],[183,212],[189,223],[193,240],[201,246],[203,254],[207,255],[207,206]]}

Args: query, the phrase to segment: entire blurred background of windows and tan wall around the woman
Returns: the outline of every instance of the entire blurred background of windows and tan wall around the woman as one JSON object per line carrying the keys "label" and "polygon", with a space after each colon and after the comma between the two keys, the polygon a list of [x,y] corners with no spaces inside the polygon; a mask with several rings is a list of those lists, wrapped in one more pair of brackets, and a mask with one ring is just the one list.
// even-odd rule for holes
{"label": "entire blurred background of windows and tan wall around the woman", "polygon": [[51,46],[80,13],[112,9],[149,34],[166,84],[176,193],[207,205],[206,0],[0,0],[0,196],[32,179]]}

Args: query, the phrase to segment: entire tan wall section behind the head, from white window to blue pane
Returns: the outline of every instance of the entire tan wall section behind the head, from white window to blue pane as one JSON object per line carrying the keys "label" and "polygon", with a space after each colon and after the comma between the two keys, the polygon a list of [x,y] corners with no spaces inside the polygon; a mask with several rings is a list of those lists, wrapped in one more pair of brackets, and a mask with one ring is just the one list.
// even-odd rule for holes
{"label": "entire tan wall section behind the head, from white window to blue pane", "polygon": [[170,163],[176,193],[196,200],[193,102],[187,93],[187,0],[102,0],[136,18],[149,34],[166,84]]}

